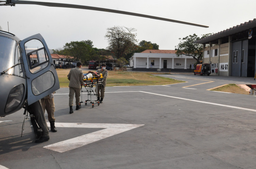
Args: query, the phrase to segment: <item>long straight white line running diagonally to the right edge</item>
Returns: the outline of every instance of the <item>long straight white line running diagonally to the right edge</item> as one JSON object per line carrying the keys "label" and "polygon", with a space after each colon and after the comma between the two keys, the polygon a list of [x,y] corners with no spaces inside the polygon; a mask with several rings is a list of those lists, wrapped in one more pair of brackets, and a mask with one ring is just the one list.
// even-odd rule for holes
{"label": "long straight white line running diagonally to the right edge", "polygon": [[212,104],[212,105],[217,105],[217,106],[230,107],[230,108],[235,108],[235,109],[241,109],[241,110],[248,110],[248,111],[256,112],[255,109],[248,109],[248,108],[243,108],[243,107],[229,106],[229,105],[225,105],[225,104],[204,102],[204,101],[192,100],[192,99],[186,99],[186,98],[179,98],[179,97],[174,97],[174,96],[167,96],[167,95],[164,95],[164,94],[150,93],[150,92],[146,92],[146,91],[140,91],[140,92],[154,94],[154,95],[158,95],[158,96],[169,97],[169,98],[188,100],[188,101],[192,101],[192,102],[206,103],[206,104]]}

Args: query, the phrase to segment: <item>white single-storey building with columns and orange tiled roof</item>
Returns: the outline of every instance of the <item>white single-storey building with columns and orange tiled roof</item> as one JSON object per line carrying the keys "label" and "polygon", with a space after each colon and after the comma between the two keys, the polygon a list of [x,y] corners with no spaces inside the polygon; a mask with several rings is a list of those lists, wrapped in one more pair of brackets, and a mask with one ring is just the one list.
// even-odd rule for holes
{"label": "white single-storey building with columns and orange tiled roof", "polygon": [[189,69],[190,64],[197,62],[191,56],[177,57],[175,52],[176,50],[147,49],[141,53],[135,53],[130,59],[130,66],[134,69]]}

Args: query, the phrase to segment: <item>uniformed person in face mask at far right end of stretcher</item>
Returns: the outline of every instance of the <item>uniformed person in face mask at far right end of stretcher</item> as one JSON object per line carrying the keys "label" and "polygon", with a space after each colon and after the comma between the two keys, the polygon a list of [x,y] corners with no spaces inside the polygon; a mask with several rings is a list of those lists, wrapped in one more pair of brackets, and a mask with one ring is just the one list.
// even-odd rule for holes
{"label": "uniformed person in face mask at far right end of stretcher", "polygon": [[101,65],[101,69],[98,69],[97,72],[102,73],[102,76],[104,78],[102,85],[99,85],[97,87],[97,99],[100,101],[100,103],[102,103],[103,99],[104,99],[104,92],[105,92],[105,87],[107,84],[107,76],[108,76],[108,71],[106,69],[106,65],[103,63]]}

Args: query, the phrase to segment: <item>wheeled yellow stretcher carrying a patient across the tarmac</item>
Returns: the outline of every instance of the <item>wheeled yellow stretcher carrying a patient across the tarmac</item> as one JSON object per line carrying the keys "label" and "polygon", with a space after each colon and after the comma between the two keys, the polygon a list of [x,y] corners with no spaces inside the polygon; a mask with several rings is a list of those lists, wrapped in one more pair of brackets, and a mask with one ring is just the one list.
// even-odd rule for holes
{"label": "wheeled yellow stretcher carrying a patient across the tarmac", "polygon": [[[90,75],[88,75],[90,74]],[[84,74],[84,83],[81,84],[81,103],[87,103],[92,104],[92,108],[94,107],[94,104],[97,103],[98,106],[100,105],[100,101],[97,100],[97,88],[98,85],[101,85],[103,82],[104,78],[102,77],[102,73],[100,73],[100,78],[97,76],[93,75],[92,73],[85,73]],[[85,87],[85,90],[83,90],[83,86]],[[95,86],[95,92],[92,90],[92,87]],[[87,100],[83,101],[83,92],[87,92]],[[96,96],[96,100],[92,100],[92,96]]]}

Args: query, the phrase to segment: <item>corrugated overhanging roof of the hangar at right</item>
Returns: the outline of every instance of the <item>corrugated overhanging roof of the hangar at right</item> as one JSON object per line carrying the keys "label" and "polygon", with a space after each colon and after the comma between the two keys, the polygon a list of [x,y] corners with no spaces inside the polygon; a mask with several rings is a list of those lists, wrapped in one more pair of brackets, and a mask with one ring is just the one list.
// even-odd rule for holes
{"label": "corrugated overhanging roof of the hangar at right", "polygon": [[241,32],[241,31],[248,30],[249,28],[253,28],[253,27],[256,27],[256,19],[250,20],[248,22],[241,23],[240,25],[233,26],[229,29],[220,31],[216,34],[213,34],[213,35],[207,36],[205,38],[199,39],[197,41],[194,41],[194,43],[202,43],[202,44],[203,43],[208,43],[210,41],[214,41],[214,40],[217,40],[217,39],[220,39],[220,38],[224,38],[224,37],[227,37],[229,35],[233,35],[233,34]]}

